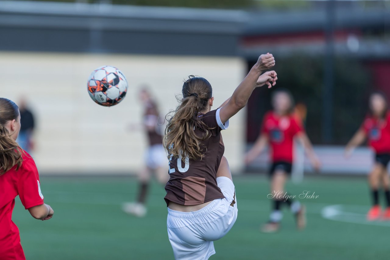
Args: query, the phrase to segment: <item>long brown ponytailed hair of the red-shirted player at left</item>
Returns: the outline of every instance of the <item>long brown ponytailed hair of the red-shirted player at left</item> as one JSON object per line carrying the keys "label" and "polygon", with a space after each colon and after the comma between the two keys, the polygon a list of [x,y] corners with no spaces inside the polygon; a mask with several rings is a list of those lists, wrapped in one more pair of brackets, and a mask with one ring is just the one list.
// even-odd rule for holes
{"label": "long brown ponytailed hair of the red-shirted player at left", "polygon": [[23,150],[5,128],[8,121],[18,120],[18,117],[18,106],[13,101],[0,97],[0,175],[8,172],[15,165],[18,170],[23,162]]}

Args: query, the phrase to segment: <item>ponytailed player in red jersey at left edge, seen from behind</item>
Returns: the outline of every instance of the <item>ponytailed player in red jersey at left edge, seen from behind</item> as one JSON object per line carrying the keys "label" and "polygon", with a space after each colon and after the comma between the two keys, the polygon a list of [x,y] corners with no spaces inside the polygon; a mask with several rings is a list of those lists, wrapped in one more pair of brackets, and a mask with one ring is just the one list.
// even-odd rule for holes
{"label": "ponytailed player in red jersey at left edge, seen from behind", "polygon": [[15,197],[31,216],[51,219],[53,209],[43,203],[34,160],[16,143],[20,130],[18,106],[0,98],[0,259],[24,260],[18,227],[12,222]]}

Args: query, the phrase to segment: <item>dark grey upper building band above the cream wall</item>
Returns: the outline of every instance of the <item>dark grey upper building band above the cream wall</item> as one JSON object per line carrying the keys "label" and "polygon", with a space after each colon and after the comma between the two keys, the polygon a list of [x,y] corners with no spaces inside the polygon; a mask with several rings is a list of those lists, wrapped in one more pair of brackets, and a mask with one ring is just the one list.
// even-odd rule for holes
{"label": "dark grey upper building band above the cream wall", "polygon": [[241,11],[5,1],[0,50],[235,56],[244,20]]}

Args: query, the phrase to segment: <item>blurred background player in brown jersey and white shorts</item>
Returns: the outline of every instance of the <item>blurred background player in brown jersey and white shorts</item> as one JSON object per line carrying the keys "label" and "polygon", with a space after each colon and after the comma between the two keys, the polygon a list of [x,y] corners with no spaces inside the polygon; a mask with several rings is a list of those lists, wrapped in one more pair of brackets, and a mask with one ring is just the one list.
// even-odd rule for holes
{"label": "blurred background player in brown jersey and white shorts", "polygon": [[141,88],[139,99],[144,106],[142,128],[148,138],[148,149],[145,154],[145,166],[138,173],[139,188],[137,201],[135,203],[125,203],[123,210],[128,214],[143,217],[147,213],[145,203],[151,182],[151,174],[154,172],[156,179],[161,184],[167,183],[169,175],[167,154],[163,147],[163,121],[161,122],[160,120],[157,104],[146,87]]}

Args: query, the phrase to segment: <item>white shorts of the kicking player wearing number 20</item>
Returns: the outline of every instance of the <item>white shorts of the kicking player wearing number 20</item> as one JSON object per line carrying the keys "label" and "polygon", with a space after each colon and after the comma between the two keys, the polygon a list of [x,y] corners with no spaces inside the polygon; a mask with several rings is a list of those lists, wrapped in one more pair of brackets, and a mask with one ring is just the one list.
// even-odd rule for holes
{"label": "white shorts of the kicking player wearing number 20", "polygon": [[222,238],[237,219],[237,199],[233,182],[227,177],[217,178],[225,198],[213,200],[203,209],[180,212],[168,208],[168,238],[175,259],[203,260],[215,254],[213,241]]}

